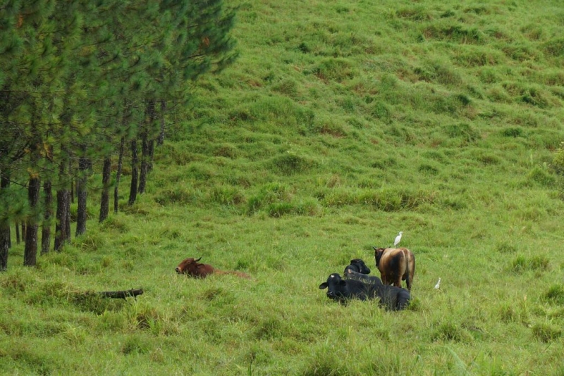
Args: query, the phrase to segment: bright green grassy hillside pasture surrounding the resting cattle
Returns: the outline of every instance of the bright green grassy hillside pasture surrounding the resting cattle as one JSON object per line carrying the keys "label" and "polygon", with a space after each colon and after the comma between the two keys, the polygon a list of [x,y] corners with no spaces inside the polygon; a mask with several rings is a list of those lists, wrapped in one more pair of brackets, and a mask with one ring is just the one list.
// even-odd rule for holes
{"label": "bright green grassy hillside pasture surrounding the resting cattle", "polygon": [[[401,3],[401,4],[400,4]],[[0,275],[6,375],[562,375],[560,1],[228,1],[147,193]],[[92,185],[99,184],[92,177]],[[318,289],[415,253],[408,311]],[[200,257],[254,280],[191,280]],[[434,284],[441,277],[441,289]],[[137,300],[82,294],[142,287]]]}

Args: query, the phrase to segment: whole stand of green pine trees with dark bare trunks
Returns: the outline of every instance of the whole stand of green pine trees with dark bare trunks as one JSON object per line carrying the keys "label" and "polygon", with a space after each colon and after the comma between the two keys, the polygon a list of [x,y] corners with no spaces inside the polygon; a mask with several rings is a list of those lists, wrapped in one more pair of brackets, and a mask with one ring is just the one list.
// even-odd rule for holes
{"label": "whole stand of green pine trees with dark bare trunks", "polygon": [[236,57],[234,16],[222,0],[0,1],[0,270],[20,223],[24,265],[36,264],[39,228],[40,252],[61,251],[74,195],[85,233],[93,165],[101,222],[112,187],[118,212],[125,163],[135,203],[191,83]]}

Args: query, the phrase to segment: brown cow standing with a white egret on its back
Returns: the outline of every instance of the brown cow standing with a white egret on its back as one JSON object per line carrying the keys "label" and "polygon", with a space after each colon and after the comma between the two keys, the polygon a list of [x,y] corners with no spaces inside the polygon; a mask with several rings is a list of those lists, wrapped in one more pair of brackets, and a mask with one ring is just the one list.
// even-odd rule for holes
{"label": "brown cow standing with a white egret on its back", "polygon": [[407,248],[376,248],[375,246],[372,248],[382,283],[401,287],[401,281],[405,281],[407,289],[411,291],[415,275],[413,253]]}

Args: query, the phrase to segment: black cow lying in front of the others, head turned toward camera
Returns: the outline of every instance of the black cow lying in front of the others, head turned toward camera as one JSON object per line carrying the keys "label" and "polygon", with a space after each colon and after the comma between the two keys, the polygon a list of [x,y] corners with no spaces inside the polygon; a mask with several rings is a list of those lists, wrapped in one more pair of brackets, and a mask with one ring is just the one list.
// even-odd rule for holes
{"label": "black cow lying in front of the others, head turned toward camera", "polygon": [[[353,275],[352,273],[355,274]],[[406,289],[382,284],[378,277],[369,277],[356,272],[352,273],[350,273],[350,279],[348,280],[343,280],[341,275],[333,273],[329,275],[327,282],[319,285],[319,289],[327,289],[327,296],[341,303],[348,299],[367,300],[378,298],[380,305],[390,311],[400,311],[409,305],[411,296]],[[376,283],[352,279],[352,277],[362,278],[360,276],[367,278],[367,281]]]}

